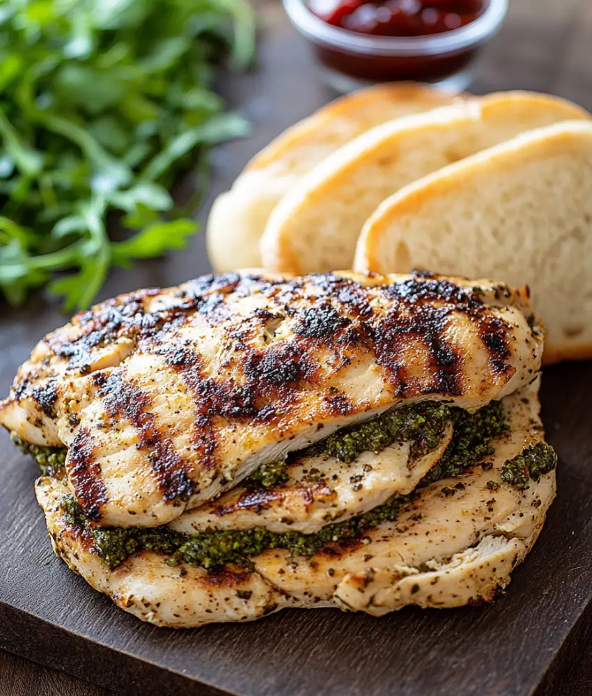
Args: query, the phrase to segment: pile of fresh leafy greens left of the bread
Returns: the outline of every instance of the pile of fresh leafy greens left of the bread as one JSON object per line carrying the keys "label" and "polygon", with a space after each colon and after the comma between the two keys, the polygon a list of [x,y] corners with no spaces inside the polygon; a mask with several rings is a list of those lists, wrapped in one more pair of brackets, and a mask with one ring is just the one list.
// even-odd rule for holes
{"label": "pile of fresh leafy greens left of the bread", "polygon": [[[0,3],[0,294],[49,283],[86,308],[112,265],[182,248],[196,223],[169,189],[193,166],[195,207],[208,145],[247,134],[211,85],[253,43],[248,0]],[[128,239],[107,236],[111,211]]]}

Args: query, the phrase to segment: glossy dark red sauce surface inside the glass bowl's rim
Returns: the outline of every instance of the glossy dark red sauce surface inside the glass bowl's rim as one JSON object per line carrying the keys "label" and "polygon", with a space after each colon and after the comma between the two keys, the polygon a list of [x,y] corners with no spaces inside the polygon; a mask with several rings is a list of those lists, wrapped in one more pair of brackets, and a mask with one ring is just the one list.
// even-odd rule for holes
{"label": "glossy dark red sauce surface inside the glass bowl's rim", "polygon": [[313,14],[340,29],[375,36],[429,36],[460,29],[484,0],[309,0]]}

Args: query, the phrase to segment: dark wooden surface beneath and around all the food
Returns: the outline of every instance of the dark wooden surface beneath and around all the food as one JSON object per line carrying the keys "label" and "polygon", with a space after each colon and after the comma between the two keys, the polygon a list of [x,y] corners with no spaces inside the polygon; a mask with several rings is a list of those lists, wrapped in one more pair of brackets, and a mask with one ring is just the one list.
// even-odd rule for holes
{"label": "dark wooden surface beneath and around all the food", "polygon": [[[279,5],[261,6],[260,17],[259,70],[221,85],[254,121],[254,133],[215,152],[212,196],[272,136],[332,97]],[[591,37],[589,0],[511,0],[474,90],[546,90],[592,109]],[[203,237],[196,237],[190,253],[113,274],[103,296],[178,283],[207,268]],[[0,305],[0,395],[36,340],[63,320],[40,296],[18,313]],[[0,434],[0,647],[130,694],[179,688],[184,694],[526,696],[538,688],[538,695],[590,695],[591,387],[592,363],[545,372],[543,416],[563,459],[559,498],[508,595],[488,608],[405,610],[384,619],[317,610],[196,631],[141,624],[52,555],[33,498],[35,470]],[[163,679],[159,664],[175,674]],[[217,689],[187,686],[182,674]],[[0,651],[0,694],[107,693]]]}

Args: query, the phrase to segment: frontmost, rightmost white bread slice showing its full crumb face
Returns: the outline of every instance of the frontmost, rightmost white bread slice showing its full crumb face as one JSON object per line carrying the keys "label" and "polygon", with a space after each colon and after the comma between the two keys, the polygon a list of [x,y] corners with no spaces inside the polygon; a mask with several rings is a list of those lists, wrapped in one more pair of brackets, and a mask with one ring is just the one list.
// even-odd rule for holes
{"label": "frontmost, rightmost white bread slice showing its full crumb face", "polygon": [[592,357],[592,122],[523,134],[399,191],[368,219],[355,268],[526,282],[544,362]]}

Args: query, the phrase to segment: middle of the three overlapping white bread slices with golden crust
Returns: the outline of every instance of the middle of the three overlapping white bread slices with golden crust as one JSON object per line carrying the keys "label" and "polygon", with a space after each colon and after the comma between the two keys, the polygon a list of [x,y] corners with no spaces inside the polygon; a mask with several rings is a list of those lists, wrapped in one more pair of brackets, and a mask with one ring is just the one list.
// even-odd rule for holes
{"label": "middle of the three overlapping white bread slices with golden crust", "polygon": [[305,274],[350,268],[364,222],[384,198],[443,166],[524,131],[589,118],[535,93],[497,93],[376,127],[325,159],[274,209],[264,267]]}

